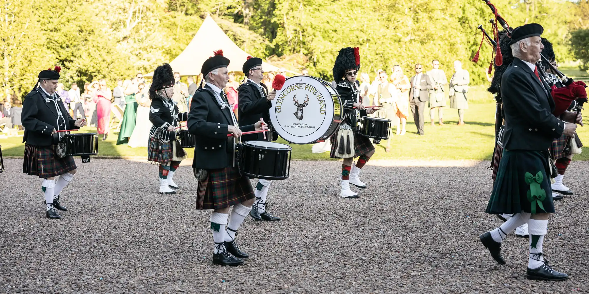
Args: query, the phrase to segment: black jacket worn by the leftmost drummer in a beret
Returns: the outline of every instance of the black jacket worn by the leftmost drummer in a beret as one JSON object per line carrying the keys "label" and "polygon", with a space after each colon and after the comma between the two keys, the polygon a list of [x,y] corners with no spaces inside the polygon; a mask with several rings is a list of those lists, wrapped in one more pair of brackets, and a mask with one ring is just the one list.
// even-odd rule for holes
{"label": "black jacket worn by the leftmost drummer in a beret", "polygon": [[[52,145],[53,139],[51,132],[79,129],[74,126],[75,119],[70,116],[70,111],[65,108],[64,102],[57,93],[54,93],[52,99],[48,99],[47,94],[40,88],[33,89],[25,96],[22,101],[22,126],[25,127],[25,135],[22,137],[22,142],[27,142],[29,145],[48,146]],[[47,98],[47,99],[46,99]],[[57,107],[61,111],[59,123],[57,122],[58,113],[55,108],[53,99],[57,99]],[[46,102],[47,101],[47,102]]]}

